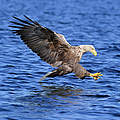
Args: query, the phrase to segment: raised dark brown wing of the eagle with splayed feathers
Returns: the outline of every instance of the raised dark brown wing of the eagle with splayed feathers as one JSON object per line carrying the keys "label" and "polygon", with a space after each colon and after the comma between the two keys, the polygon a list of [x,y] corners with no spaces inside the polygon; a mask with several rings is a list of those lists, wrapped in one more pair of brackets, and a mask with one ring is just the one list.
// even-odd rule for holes
{"label": "raised dark brown wing of the eagle with splayed feathers", "polygon": [[65,40],[64,36],[50,29],[41,26],[36,21],[32,21],[27,16],[24,16],[27,21],[14,17],[19,22],[11,23],[9,27],[17,28],[12,30],[13,33],[20,35],[21,39],[27,46],[37,53],[42,60],[52,66],[62,65],[70,44]]}

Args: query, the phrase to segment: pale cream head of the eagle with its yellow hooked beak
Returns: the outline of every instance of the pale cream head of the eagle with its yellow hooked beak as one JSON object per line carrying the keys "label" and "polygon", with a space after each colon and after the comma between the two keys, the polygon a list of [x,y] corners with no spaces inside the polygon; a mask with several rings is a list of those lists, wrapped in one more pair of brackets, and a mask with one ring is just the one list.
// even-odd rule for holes
{"label": "pale cream head of the eagle with its yellow hooked beak", "polygon": [[94,56],[97,55],[97,52],[93,45],[80,45],[79,47],[82,49],[83,53],[91,52]]}

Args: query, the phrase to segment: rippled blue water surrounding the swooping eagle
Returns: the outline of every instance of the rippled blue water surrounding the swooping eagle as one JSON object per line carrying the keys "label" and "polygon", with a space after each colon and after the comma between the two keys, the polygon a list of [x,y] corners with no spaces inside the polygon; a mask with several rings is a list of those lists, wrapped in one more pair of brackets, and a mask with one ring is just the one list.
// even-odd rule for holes
{"label": "rippled blue water surrounding the swooping eagle", "polygon": [[[119,0],[0,0],[0,120],[120,120]],[[53,68],[8,28],[28,15],[72,45],[92,44],[81,64],[98,81],[69,74],[40,78]]]}

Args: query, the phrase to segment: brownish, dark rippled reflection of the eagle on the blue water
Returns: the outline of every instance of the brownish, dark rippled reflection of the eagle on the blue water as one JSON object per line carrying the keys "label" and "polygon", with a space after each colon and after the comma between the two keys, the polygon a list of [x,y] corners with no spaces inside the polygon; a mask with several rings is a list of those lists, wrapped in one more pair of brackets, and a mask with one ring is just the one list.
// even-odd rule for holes
{"label": "brownish, dark rippled reflection of the eagle on the blue water", "polygon": [[[28,95],[17,97],[16,101],[28,106],[42,107],[65,106],[65,104],[77,104],[76,100],[82,95],[82,89],[70,86],[45,86],[40,84],[40,89],[35,89]],[[74,100],[73,100],[74,99]]]}

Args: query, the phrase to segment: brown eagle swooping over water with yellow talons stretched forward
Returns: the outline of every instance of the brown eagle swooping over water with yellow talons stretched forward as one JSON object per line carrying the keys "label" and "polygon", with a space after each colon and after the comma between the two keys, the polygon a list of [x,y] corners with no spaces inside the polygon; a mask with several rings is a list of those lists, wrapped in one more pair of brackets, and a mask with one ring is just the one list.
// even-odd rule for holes
{"label": "brown eagle swooping over water with yellow talons stretched forward", "polygon": [[102,76],[99,72],[90,73],[79,64],[84,53],[91,52],[94,56],[97,55],[93,45],[72,46],[66,41],[64,35],[43,27],[25,15],[26,20],[15,16],[13,18],[15,21],[10,21],[12,25],[9,26],[15,28],[12,32],[19,35],[43,61],[55,67],[55,70],[48,72],[41,80],[68,73],[74,73],[80,79],[90,76],[97,80]]}

